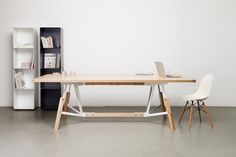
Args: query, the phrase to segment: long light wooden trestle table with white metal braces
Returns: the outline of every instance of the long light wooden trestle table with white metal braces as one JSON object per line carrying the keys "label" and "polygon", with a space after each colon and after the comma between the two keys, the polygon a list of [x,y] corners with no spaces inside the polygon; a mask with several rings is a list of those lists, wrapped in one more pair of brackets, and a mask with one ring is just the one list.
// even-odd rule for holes
{"label": "long light wooden trestle table with white metal braces", "polygon": [[[167,83],[187,83],[195,82],[194,79],[188,78],[166,78],[158,77],[157,75],[78,75],[78,76],[63,76],[60,74],[48,74],[34,79],[34,82],[48,82],[48,83],[62,83],[65,85],[63,96],[60,98],[58,111],[54,129],[58,129],[61,115],[70,115],[78,117],[152,117],[161,116],[169,120],[169,125],[172,130],[175,130],[174,121],[171,113],[170,101],[165,92],[164,85]],[[71,86],[74,86],[77,105],[79,110],[69,105]],[[81,97],[79,93],[79,86],[82,85],[145,85],[150,86],[149,98],[145,112],[110,112],[110,113],[96,113],[83,112]],[[160,105],[163,111],[157,113],[150,113],[151,102],[154,96],[154,91],[158,89]],[[73,112],[68,112],[67,108]]]}

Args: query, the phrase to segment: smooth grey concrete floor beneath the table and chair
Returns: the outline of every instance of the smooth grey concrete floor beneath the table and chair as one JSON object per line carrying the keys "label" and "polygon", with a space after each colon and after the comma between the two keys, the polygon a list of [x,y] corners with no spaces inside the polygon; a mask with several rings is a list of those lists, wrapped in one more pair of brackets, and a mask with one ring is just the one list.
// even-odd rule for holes
{"label": "smooth grey concrete floor beneath the table and chair", "polygon": [[[87,110],[101,110],[87,108]],[[111,108],[107,110],[134,110]],[[138,108],[141,110],[143,108]],[[200,124],[194,114],[193,125],[177,124],[182,108],[172,108],[176,131],[168,121],[152,118],[63,119],[53,130],[56,112],[14,111],[0,108],[1,157],[235,157],[236,108],[209,108],[214,128],[206,117]],[[137,109],[135,109],[137,110]]]}

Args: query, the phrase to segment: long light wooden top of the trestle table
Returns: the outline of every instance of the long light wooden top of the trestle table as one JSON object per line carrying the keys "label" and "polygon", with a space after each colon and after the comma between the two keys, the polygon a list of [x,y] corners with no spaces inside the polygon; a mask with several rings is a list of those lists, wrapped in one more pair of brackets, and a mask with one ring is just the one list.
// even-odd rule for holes
{"label": "long light wooden top of the trestle table", "polygon": [[47,74],[37,77],[34,82],[51,83],[178,83],[178,82],[196,82],[195,79],[187,77],[168,78],[158,75],[83,75],[64,76],[61,74]]}

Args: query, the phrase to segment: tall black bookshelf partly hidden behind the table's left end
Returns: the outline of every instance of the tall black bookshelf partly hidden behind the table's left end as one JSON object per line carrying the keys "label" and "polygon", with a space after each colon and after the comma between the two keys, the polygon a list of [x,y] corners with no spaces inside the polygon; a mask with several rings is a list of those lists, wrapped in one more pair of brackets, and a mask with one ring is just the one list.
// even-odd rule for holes
{"label": "tall black bookshelf partly hidden behind the table's left end", "polygon": [[[63,71],[62,29],[60,27],[40,28],[39,75]],[[41,83],[39,89],[42,110],[57,110],[61,97],[60,83]]]}

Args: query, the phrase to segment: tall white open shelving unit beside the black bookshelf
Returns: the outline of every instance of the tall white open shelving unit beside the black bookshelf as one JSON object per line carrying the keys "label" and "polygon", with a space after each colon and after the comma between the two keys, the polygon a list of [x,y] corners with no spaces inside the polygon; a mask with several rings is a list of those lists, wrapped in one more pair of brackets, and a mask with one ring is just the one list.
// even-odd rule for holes
{"label": "tall white open shelving unit beside the black bookshelf", "polygon": [[36,47],[33,28],[14,28],[13,31],[13,108],[35,109]]}

